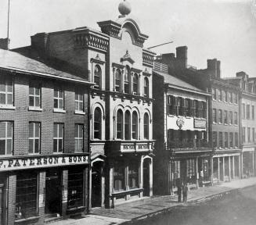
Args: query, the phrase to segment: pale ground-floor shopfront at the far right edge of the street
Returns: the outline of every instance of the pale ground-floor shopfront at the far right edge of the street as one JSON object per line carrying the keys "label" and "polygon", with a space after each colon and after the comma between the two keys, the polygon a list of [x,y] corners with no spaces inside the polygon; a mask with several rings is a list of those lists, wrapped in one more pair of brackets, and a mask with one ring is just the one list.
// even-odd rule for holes
{"label": "pale ground-floor shopfront at the far right edge of the street", "polygon": [[243,146],[241,160],[243,178],[255,176],[255,147]]}

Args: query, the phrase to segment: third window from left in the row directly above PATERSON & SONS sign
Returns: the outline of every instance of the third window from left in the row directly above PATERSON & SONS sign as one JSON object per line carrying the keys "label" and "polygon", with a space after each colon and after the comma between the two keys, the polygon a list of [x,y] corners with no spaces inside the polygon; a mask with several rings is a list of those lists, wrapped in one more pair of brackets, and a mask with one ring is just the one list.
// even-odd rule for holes
{"label": "third window from left in the row directly above PATERSON & SONS sign", "polygon": [[53,152],[63,152],[64,124],[53,124]]}

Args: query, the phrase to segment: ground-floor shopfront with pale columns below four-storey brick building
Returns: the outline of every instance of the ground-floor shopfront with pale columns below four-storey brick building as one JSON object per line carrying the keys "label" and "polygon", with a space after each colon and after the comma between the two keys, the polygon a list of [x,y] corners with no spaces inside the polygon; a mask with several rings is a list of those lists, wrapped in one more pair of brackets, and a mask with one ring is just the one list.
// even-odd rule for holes
{"label": "ground-floor shopfront with pale columns below four-storey brick building", "polygon": [[217,150],[213,156],[213,182],[241,178],[241,150]]}

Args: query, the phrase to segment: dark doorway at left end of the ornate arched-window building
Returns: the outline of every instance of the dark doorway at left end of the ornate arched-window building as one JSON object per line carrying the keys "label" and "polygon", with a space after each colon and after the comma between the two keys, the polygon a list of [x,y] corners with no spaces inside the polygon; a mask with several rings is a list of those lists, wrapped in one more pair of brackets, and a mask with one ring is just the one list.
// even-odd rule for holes
{"label": "dark doorway at left end of the ornate arched-window building", "polygon": [[92,166],[92,207],[100,207],[102,202],[102,162]]}

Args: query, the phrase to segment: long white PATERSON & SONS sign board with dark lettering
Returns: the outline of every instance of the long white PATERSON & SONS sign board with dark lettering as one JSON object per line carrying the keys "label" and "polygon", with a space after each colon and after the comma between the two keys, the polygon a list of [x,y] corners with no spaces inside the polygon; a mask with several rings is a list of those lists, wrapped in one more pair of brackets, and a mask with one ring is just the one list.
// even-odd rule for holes
{"label": "long white PATERSON & SONS sign board with dark lettering", "polygon": [[0,158],[0,170],[23,170],[36,169],[52,166],[70,166],[88,164],[88,154],[66,154],[66,155],[33,155],[22,157]]}

